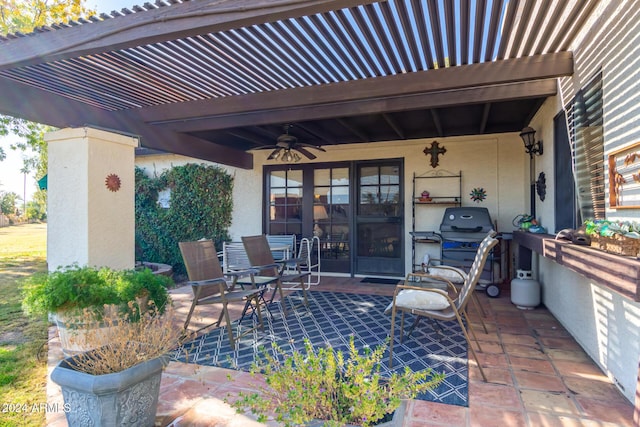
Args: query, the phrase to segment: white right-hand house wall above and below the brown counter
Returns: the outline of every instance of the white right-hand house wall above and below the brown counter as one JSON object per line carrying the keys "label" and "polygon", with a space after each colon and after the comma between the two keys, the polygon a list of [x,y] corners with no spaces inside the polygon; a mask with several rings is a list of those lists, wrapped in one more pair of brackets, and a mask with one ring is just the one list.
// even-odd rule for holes
{"label": "white right-hand house wall above and below the brown counter", "polygon": [[[536,173],[546,172],[550,200],[553,159],[546,153],[551,153],[553,117],[596,73],[603,75],[605,156],[640,141],[640,8],[631,7],[632,3],[609,1],[599,6],[590,30],[580,35],[574,49],[574,76],[560,81],[561,98],[549,99],[532,122],[545,141],[545,155],[536,159]],[[539,204],[538,212],[543,222],[552,223],[551,204]],[[608,209],[607,217],[637,220],[640,212]],[[543,303],[633,402],[640,305],[547,259],[535,259],[536,264]]]}

